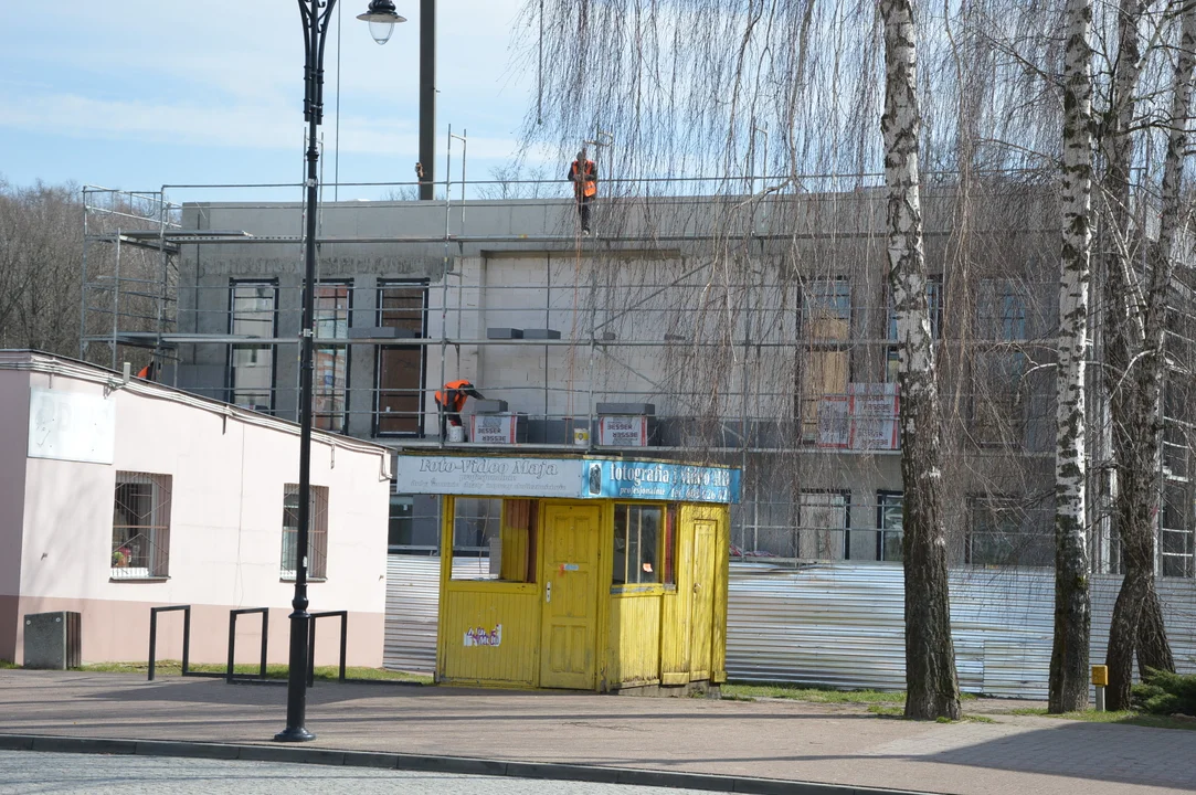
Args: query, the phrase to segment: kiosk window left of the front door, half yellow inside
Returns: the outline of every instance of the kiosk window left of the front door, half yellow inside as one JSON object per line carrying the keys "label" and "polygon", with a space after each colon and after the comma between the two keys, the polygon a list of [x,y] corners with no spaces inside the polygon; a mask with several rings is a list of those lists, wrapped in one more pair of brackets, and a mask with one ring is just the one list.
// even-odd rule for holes
{"label": "kiosk window left of the front door, half yellow inside", "polygon": [[535,500],[453,501],[452,579],[536,581]]}

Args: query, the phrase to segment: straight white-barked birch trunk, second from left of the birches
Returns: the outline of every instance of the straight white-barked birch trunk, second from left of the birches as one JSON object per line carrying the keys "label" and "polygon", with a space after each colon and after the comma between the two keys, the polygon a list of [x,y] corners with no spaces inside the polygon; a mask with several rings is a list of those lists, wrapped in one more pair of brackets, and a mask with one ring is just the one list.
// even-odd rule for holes
{"label": "straight white-barked birch trunk, second from left of the birches", "polygon": [[1055,441],[1055,642],[1048,709],[1088,705],[1088,543],[1085,531],[1085,356],[1092,231],[1092,5],[1068,0],[1063,84],[1063,245]]}

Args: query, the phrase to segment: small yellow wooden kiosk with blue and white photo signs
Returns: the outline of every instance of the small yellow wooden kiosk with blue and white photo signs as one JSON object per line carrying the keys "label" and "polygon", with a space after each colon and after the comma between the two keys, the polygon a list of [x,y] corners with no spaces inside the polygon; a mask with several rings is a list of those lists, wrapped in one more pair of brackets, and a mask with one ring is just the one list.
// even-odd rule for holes
{"label": "small yellow wooden kiosk with blue and white photo signs", "polygon": [[399,454],[444,500],[437,680],[616,691],[726,679],[739,471],[592,455]]}

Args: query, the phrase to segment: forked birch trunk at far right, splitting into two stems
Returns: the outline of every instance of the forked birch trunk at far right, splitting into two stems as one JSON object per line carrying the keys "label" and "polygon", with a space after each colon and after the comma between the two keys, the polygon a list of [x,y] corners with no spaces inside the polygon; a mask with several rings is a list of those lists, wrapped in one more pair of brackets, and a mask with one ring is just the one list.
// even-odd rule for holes
{"label": "forked birch trunk at far right, splitting into two stems", "polygon": [[[1165,361],[1163,331],[1179,219],[1179,175],[1191,82],[1191,43],[1186,41],[1191,10],[1184,10],[1180,57],[1172,88],[1172,129],[1164,163],[1159,240],[1151,245],[1143,239],[1145,232],[1135,228],[1130,213],[1134,94],[1142,63],[1139,26],[1147,8],[1145,0],[1122,0],[1118,10],[1117,67],[1105,135],[1104,182],[1110,204],[1109,241],[1104,246],[1105,383],[1117,465],[1115,516],[1125,567],[1109,629],[1110,709],[1129,708],[1135,652],[1143,668],[1174,668],[1154,587],[1154,552],[1163,441],[1159,418]],[[1133,268],[1131,252],[1136,245],[1147,246],[1147,273],[1141,277]]]}

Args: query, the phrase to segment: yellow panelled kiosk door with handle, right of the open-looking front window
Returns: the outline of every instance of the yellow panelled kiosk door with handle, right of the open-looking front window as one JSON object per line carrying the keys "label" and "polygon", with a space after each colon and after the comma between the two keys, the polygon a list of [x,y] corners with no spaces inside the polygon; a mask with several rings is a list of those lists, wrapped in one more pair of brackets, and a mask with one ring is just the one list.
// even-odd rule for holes
{"label": "yellow panelled kiosk door with handle, right of the open-looking front window", "polygon": [[544,515],[539,686],[592,690],[598,619],[598,506]]}

